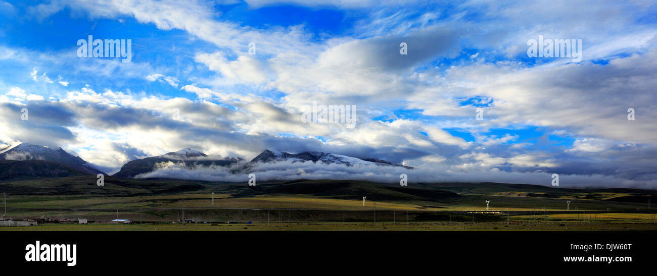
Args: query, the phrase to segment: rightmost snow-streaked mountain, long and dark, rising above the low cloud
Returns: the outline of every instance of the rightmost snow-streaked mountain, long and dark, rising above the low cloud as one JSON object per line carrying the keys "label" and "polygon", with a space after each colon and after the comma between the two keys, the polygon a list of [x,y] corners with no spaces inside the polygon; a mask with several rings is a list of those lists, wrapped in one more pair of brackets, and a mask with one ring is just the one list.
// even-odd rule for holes
{"label": "rightmost snow-streaked mountain, long and dark, rising above the low cloud", "polygon": [[382,166],[396,166],[396,167],[405,167],[411,168],[403,165],[397,165],[381,159],[359,159],[356,157],[351,157],[347,155],[340,155],[334,153],[324,153],[321,151],[304,151],[302,153],[286,153],[278,150],[265,149],[260,155],[256,156],[250,161],[250,163],[270,163],[278,161],[293,161],[293,162],[321,162],[325,164],[342,164],[348,167],[353,165],[382,165]]}

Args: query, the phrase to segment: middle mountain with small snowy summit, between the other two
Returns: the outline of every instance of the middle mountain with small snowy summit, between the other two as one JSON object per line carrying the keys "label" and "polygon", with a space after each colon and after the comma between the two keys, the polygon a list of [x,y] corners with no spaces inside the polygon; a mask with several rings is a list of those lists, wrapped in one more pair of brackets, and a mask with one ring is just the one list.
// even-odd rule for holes
{"label": "middle mountain with small snowy summit, between the other two", "polygon": [[152,172],[155,165],[162,162],[184,163],[187,167],[193,167],[195,165],[229,167],[242,161],[244,161],[244,159],[238,157],[213,158],[200,151],[186,148],[179,151],[172,151],[164,155],[129,161],[128,163],[125,163],[125,165],[121,167],[121,170],[114,174],[114,176],[133,178],[139,174]]}

